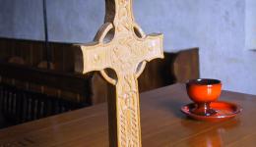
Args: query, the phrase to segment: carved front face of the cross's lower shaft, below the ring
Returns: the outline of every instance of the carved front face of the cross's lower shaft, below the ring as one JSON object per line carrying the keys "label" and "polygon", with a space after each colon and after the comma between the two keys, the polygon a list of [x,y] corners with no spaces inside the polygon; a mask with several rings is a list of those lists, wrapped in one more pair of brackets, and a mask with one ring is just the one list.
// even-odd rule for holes
{"label": "carved front face of the cross's lower shaft, below the ring", "polygon": [[138,91],[135,89],[136,83],[133,83],[133,81],[136,81],[136,77],[131,75],[124,75],[123,77],[125,82],[122,82],[120,85],[117,84],[118,106],[121,108],[118,114],[120,118],[121,144],[122,146],[127,144],[139,146]]}

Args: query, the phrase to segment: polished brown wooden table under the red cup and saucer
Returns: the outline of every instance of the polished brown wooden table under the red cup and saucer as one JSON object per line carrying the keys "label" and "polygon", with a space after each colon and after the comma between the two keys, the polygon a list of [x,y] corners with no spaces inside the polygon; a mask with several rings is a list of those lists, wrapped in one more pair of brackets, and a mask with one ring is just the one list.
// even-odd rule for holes
{"label": "polished brown wooden table under the red cup and saucer", "polygon": [[[243,107],[223,123],[187,119],[179,111],[190,103],[183,84],[141,94],[142,143],[164,146],[255,146],[256,96],[223,91],[221,100]],[[106,104],[0,130],[0,147],[107,147]]]}

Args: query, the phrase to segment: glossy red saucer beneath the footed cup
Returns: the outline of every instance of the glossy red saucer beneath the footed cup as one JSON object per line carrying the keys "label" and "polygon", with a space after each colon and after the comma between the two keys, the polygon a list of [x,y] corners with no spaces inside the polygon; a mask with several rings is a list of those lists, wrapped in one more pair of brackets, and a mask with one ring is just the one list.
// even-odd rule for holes
{"label": "glossy red saucer beneath the footed cup", "polygon": [[181,112],[187,115],[188,117],[199,120],[199,121],[207,121],[207,122],[219,122],[227,119],[234,118],[237,114],[239,114],[242,109],[241,107],[224,101],[212,102],[210,107],[217,111],[216,115],[213,116],[199,116],[193,114],[192,111],[195,109],[196,104],[191,103],[181,107]]}

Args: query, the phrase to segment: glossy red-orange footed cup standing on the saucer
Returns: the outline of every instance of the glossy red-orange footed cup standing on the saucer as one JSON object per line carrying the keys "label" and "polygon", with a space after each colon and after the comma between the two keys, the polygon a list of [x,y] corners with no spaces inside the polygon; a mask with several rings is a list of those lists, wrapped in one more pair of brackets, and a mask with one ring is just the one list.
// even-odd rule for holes
{"label": "glossy red-orange footed cup standing on the saucer", "polygon": [[212,116],[217,112],[210,108],[211,102],[217,101],[222,92],[222,81],[218,79],[191,79],[186,83],[189,98],[197,104],[192,113],[200,116]]}

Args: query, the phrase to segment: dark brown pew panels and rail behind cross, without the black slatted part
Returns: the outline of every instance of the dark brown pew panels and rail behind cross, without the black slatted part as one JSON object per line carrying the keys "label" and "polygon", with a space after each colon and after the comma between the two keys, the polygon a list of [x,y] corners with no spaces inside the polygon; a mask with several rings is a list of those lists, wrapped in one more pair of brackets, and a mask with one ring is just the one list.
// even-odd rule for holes
{"label": "dark brown pew panels and rail behind cross, without the black slatted part", "polygon": [[[97,73],[75,73],[79,45],[51,42],[50,49],[54,68],[49,71],[38,68],[45,61],[44,42],[0,38],[0,82],[90,105],[105,102],[106,82]],[[199,77],[198,48],[164,56],[146,66],[139,78],[140,91]],[[20,65],[8,63],[12,58]]]}

